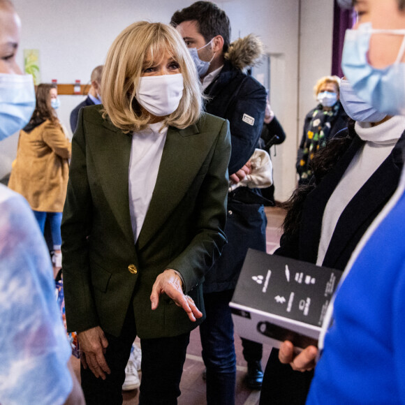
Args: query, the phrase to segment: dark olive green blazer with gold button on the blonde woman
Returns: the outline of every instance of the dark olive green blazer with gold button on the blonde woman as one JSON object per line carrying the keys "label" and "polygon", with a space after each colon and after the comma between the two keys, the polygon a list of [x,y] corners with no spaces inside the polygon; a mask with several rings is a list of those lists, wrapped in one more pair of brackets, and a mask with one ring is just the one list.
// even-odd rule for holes
{"label": "dark olive green blazer with gold button on the blonde woman", "polygon": [[205,315],[189,321],[166,295],[152,311],[149,297],[156,277],[171,268],[182,274],[186,293],[205,314],[204,274],[226,243],[228,121],[203,114],[188,128],[168,128],[135,244],[128,196],[132,136],[103,119],[101,108],[80,112],[72,140],[61,225],[68,330],[100,325],[118,336],[133,302],[139,337],[177,336]]}

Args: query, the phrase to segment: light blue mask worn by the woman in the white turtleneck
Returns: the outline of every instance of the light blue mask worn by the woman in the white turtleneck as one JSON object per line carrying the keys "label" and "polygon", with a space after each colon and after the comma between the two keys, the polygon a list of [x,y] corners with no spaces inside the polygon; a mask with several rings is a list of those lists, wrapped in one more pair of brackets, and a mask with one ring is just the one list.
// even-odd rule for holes
{"label": "light blue mask worn by the woman in the white turtleneck", "polygon": [[340,82],[339,99],[346,114],[355,121],[379,122],[387,117],[384,112],[378,112],[372,105],[359,98],[348,80],[342,79]]}

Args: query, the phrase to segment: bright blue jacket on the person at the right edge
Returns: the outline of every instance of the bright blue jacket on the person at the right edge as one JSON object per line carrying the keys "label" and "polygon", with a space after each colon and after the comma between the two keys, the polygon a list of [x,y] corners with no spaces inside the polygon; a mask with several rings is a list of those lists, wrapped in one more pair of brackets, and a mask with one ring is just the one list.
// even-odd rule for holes
{"label": "bright blue jacket on the person at the right edge", "polygon": [[370,227],[374,232],[345,270],[308,405],[405,404],[404,186],[403,171],[395,196]]}

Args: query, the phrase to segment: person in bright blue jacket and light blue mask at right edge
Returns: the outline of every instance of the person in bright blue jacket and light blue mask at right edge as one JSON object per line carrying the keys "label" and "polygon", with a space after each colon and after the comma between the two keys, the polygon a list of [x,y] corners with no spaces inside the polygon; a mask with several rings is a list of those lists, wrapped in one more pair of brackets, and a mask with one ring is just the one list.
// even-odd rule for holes
{"label": "person in bright blue jacket and light blue mask at right edge", "polygon": [[[342,6],[352,2],[339,0]],[[342,68],[364,102],[386,115],[405,113],[405,2],[357,0]],[[403,142],[401,142],[404,153]],[[316,366],[307,404],[404,404],[405,177],[355,249],[323,323],[319,353],[289,342],[281,362]]]}

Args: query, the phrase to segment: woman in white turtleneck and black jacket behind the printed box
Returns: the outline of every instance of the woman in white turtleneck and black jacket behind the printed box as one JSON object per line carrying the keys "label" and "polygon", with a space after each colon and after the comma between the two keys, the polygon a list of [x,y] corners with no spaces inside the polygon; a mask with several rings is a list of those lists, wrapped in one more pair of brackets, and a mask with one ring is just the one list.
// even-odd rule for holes
{"label": "woman in white turtleneck and black jacket behind the printed box", "polygon": [[[314,182],[297,189],[287,202],[281,247],[275,254],[344,270],[399,182],[405,117],[377,112],[355,95],[347,80],[341,81],[340,100],[353,121],[314,158]],[[306,366],[316,353],[314,346],[302,352]],[[270,399],[272,404],[305,403],[314,374],[300,372],[304,369],[293,358],[290,342],[284,342],[280,351],[272,350],[260,404]]]}

